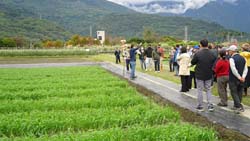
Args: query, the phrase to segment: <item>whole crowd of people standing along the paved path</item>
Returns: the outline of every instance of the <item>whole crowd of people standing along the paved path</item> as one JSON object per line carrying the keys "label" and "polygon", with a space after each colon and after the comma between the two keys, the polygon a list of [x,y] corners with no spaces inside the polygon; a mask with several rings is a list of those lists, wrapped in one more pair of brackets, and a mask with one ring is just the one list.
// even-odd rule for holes
{"label": "whole crowd of people standing along the paved path", "polygon": [[[115,51],[116,63],[120,62],[120,54],[119,50]],[[136,54],[139,56],[142,70],[152,71],[154,65],[156,73],[162,71],[164,49],[160,44],[155,47],[148,45],[146,49],[142,44],[137,47],[131,45],[123,48],[122,51],[126,69],[128,72],[131,71],[131,80],[136,78]],[[250,86],[249,68],[250,45],[248,43],[243,44],[242,47],[238,47],[237,44],[222,47],[209,44],[208,40],[204,39],[200,41],[200,45],[192,47],[176,45],[169,51],[169,71],[175,72],[174,75],[180,77],[180,92],[197,89],[198,111],[204,110],[203,91],[206,93],[208,111],[214,111],[211,88],[216,81],[220,97],[217,105],[228,106],[227,87],[229,86],[234,101],[233,110],[236,113],[244,112],[242,96],[243,93],[247,95],[247,88]]]}

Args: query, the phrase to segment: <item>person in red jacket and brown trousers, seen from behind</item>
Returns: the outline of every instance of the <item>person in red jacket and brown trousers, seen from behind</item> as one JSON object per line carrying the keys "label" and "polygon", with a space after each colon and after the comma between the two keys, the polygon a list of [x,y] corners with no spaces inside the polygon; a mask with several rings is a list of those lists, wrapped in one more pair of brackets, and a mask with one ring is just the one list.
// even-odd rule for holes
{"label": "person in red jacket and brown trousers, seen from behind", "polygon": [[229,61],[226,58],[226,50],[219,52],[220,59],[217,61],[214,68],[215,75],[217,77],[217,87],[220,96],[220,103],[218,106],[227,106],[227,84],[229,82]]}

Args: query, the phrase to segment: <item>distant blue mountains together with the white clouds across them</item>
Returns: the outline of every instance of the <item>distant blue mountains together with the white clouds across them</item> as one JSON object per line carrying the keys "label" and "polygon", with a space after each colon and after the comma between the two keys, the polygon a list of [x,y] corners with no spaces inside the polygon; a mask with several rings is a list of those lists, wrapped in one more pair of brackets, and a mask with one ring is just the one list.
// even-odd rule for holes
{"label": "distant blue mountains together with the white clouds across them", "polygon": [[216,22],[229,29],[250,32],[250,0],[152,0],[119,4],[142,13],[192,17]]}

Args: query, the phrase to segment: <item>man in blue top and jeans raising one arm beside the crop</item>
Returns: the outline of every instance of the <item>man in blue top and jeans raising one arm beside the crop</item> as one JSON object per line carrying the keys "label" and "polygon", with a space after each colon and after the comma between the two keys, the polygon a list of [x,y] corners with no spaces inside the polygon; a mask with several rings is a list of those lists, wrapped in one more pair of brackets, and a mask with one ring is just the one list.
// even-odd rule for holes
{"label": "man in blue top and jeans raising one arm beside the crop", "polygon": [[139,47],[134,48],[134,45],[131,45],[129,55],[130,55],[130,67],[131,67],[131,73],[130,73],[130,79],[134,80],[136,78],[135,76],[135,66],[136,66],[136,51],[139,49]]}

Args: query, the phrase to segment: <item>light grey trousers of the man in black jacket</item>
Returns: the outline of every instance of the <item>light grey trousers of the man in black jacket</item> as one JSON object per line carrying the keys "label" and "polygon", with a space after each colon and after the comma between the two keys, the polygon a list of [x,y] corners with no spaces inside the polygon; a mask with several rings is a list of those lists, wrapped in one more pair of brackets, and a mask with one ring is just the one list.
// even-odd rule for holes
{"label": "light grey trousers of the man in black jacket", "polygon": [[203,104],[203,90],[205,90],[207,94],[207,103],[211,104],[211,98],[212,98],[212,93],[211,93],[211,81],[210,80],[199,80],[196,79],[197,83],[197,97],[198,97],[198,106],[202,106]]}

